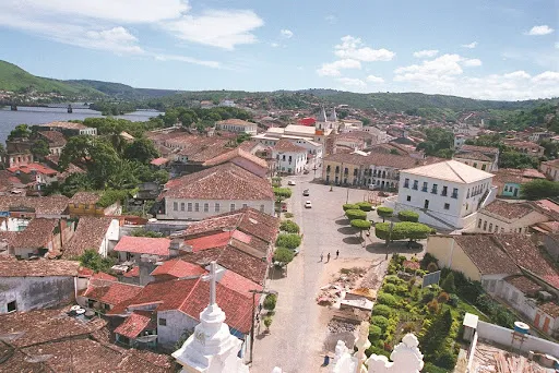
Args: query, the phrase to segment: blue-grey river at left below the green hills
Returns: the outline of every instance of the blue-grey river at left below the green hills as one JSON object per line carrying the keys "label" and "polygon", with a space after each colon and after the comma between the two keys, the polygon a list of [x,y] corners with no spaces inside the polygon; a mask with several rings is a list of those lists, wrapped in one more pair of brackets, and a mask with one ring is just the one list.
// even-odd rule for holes
{"label": "blue-grey river at left below the green hills", "polygon": [[[158,111],[134,111],[115,118],[128,119],[133,122],[144,122],[152,117],[157,117]],[[4,144],[10,132],[17,124],[44,124],[56,121],[84,120],[85,118],[103,117],[99,111],[91,109],[73,109],[68,113],[66,108],[36,108],[19,106],[17,111],[11,111],[10,107],[0,108],[0,144]]]}

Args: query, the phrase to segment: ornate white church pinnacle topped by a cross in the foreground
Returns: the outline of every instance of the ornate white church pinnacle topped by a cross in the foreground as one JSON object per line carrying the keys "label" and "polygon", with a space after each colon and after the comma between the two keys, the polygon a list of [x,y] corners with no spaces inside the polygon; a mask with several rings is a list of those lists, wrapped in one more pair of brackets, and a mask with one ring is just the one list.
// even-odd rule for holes
{"label": "ornate white church pinnacle topped by a cross in the foreground", "polygon": [[224,323],[225,313],[215,302],[215,262],[203,280],[210,281],[210,304],[200,313],[200,324],[173,357],[182,365],[181,373],[248,373],[249,368],[238,358],[242,342]]}

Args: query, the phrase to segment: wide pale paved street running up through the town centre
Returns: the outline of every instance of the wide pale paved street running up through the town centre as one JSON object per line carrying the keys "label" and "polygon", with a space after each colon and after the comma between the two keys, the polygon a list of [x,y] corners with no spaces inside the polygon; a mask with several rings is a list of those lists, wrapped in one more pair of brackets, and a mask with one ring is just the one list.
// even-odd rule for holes
{"label": "wide pale paved street running up through the town centre", "polygon": [[[318,372],[316,364],[325,335],[325,326],[319,322],[320,306],[314,299],[319,288],[324,284],[320,280],[329,264],[320,262],[320,254],[332,255],[331,266],[334,265],[335,252],[340,250],[340,261],[364,258],[364,265],[372,260],[384,260],[386,249],[383,243],[371,234],[367,248],[354,230],[348,227],[343,215],[342,205],[349,193],[349,202],[364,201],[367,191],[312,183],[312,171],[307,176],[288,177],[297,184],[290,186],[293,196],[288,200],[288,209],[295,214],[295,221],[304,233],[300,254],[288,265],[287,276],[272,274],[270,289],[278,291],[276,313],[273,317],[271,334],[257,336],[252,372],[269,373],[274,366],[280,366],[287,373]],[[310,190],[310,196],[302,196],[305,189]],[[312,208],[304,207],[305,201],[312,202]],[[376,213],[370,217],[378,220]],[[404,244],[405,245],[405,244]],[[368,262],[368,263],[367,263]],[[264,330],[261,325],[260,332]]]}

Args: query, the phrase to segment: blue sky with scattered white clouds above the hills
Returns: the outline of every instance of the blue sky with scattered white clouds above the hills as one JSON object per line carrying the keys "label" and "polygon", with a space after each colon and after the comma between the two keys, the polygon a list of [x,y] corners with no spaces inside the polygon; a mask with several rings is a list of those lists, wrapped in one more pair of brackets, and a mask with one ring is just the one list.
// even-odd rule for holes
{"label": "blue sky with scattered white clouds above the hills", "polygon": [[559,96],[552,0],[1,0],[0,59],[136,87]]}

